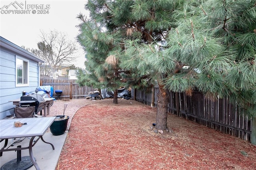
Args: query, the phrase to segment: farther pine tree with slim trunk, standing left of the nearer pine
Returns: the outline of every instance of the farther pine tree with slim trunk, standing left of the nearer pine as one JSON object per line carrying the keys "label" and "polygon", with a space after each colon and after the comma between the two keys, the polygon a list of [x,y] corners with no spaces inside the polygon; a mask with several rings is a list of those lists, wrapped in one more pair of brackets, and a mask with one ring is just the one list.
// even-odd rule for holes
{"label": "farther pine tree with slim trunk, standing left of the nearer pine", "polygon": [[78,16],[82,21],[78,41],[86,51],[86,71],[80,70],[78,83],[110,88],[114,91],[113,103],[117,104],[118,88],[127,84],[123,75],[130,73],[119,67],[118,53],[123,48],[123,35],[112,24],[113,5],[112,1],[89,0],[86,9],[90,11],[90,18]]}

